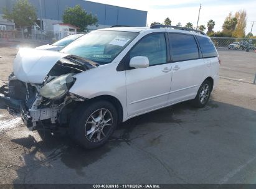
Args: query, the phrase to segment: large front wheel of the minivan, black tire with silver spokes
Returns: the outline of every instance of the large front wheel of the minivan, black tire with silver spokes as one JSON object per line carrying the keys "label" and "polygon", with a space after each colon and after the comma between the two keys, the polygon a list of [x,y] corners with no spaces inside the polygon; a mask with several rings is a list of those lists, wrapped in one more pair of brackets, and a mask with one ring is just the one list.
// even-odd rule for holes
{"label": "large front wheel of the minivan, black tire with silver spokes", "polygon": [[69,129],[72,139],[85,149],[93,149],[105,144],[118,123],[115,106],[99,100],[83,104],[73,113]]}

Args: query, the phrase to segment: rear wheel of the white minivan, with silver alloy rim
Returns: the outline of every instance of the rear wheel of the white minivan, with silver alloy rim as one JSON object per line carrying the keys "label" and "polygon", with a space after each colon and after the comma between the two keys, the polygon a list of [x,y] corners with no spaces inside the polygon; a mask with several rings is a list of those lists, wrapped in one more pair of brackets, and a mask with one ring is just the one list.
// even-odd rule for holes
{"label": "rear wheel of the white minivan, with silver alloy rim", "polygon": [[211,96],[212,85],[211,82],[205,80],[197,91],[196,98],[192,100],[192,105],[196,108],[204,108]]}

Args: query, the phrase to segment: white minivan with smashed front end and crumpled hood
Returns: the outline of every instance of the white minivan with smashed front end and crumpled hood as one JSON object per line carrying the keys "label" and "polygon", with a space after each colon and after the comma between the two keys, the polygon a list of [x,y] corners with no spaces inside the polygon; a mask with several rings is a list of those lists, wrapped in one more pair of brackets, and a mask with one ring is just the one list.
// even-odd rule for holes
{"label": "white minivan with smashed front end and crumpled hood", "polygon": [[87,149],[120,122],[192,99],[202,108],[219,81],[214,44],[175,26],[113,27],[90,32],[60,52],[21,48],[0,103],[26,126],[67,127]]}

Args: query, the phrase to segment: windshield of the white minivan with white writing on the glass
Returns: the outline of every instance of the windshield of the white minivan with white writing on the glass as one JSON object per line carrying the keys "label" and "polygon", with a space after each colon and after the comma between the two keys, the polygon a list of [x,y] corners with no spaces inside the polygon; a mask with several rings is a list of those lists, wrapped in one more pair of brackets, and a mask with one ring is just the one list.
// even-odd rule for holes
{"label": "windshield of the white minivan with white writing on the glass", "polygon": [[136,32],[95,31],[67,45],[61,52],[106,64],[114,60],[137,35]]}

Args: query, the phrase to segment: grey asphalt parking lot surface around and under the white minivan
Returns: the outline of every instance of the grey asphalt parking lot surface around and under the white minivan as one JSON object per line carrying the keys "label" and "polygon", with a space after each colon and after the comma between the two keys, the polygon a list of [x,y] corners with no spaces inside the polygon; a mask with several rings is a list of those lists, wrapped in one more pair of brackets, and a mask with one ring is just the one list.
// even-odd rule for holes
{"label": "grey asphalt parking lot surface around and under the white minivan", "polygon": [[[16,48],[0,47],[1,84]],[[130,119],[98,149],[65,131],[27,131],[0,111],[0,183],[256,183],[256,53],[220,50],[220,83],[189,102]],[[243,79],[243,80],[240,80]]]}

